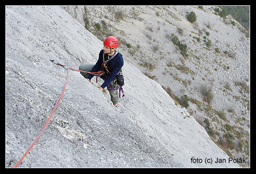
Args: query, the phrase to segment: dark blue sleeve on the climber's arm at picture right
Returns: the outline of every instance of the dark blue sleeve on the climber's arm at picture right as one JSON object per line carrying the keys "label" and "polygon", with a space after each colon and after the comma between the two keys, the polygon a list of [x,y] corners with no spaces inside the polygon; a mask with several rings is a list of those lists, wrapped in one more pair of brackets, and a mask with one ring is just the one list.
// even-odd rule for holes
{"label": "dark blue sleeve on the climber's arm at picture right", "polygon": [[[118,59],[116,59],[116,61],[115,61],[114,69],[111,71],[110,75],[105,80],[105,82],[101,85],[101,87],[103,89],[105,87],[107,87],[116,78],[116,75],[118,74],[118,72],[121,70],[121,68],[123,66],[123,57],[122,57],[122,55],[119,54],[119,56],[117,58]],[[112,63],[114,63],[114,61]]]}

